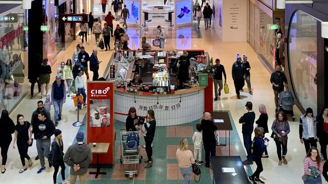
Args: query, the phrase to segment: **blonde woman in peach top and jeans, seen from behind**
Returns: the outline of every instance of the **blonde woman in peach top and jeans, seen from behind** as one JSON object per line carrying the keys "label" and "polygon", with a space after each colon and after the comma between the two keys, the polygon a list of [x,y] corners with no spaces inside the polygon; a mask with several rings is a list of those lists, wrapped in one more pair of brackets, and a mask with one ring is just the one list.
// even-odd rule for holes
{"label": "blonde woman in peach top and jeans, seen from behind", "polygon": [[184,184],[190,183],[190,175],[192,174],[192,164],[195,163],[192,152],[188,149],[188,140],[186,138],[180,141],[179,148],[177,149],[177,160],[179,169],[184,177]]}

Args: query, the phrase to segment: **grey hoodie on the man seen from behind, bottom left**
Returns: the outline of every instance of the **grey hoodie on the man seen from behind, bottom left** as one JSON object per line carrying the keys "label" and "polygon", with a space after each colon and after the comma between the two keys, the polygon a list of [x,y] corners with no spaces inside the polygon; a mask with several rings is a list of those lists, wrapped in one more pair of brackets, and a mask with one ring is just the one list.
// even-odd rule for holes
{"label": "grey hoodie on the man seen from behind, bottom left", "polygon": [[[85,174],[88,170],[89,163],[92,161],[92,152],[90,146],[86,143],[75,143],[71,145],[64,155],[64,161],[71,167],[70,174]],[[80,165],[80,169],[77,172],[74,171],[74,164]]]}

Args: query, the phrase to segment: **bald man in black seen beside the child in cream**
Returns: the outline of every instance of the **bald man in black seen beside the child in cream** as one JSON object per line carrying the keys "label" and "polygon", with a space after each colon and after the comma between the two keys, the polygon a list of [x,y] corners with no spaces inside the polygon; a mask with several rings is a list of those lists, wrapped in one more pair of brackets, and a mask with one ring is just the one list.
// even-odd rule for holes
{"label": "bald man in black seen beside the child in cream", "polygon": [[204,119],[201,120],[201,129],[203,131],[203,144],[205,149],[205,167],[209,169],[209,154],[215,156],[215,134],[214,131],[217,127],[212,121],[211,114],[204,113]]}

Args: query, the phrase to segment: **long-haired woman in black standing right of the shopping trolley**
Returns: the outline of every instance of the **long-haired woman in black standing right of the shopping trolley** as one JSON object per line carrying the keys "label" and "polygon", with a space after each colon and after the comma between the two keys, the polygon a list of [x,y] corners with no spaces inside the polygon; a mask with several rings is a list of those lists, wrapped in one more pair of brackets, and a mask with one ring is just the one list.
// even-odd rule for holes
{"label": "long-haired woman in black standing right of the shopping trolley", "polygon": [[154,136],[155,136],[155,129],[156,129],[156,119],[155,119],[155,113],[153,110],[148,110],[147,111],[147,118],[149,118],[149,126],[147,126],[147,124],[144,124],[145,129],[147,130],[147,136],[145,136],[145,142],[146,142],[146,153],[147,153],[147,157],[148,157],[148,162],[147,165],[145,166],[145,168],[149,168],[152,167],[152,147],[151,147],[151,143],[154,140]]}

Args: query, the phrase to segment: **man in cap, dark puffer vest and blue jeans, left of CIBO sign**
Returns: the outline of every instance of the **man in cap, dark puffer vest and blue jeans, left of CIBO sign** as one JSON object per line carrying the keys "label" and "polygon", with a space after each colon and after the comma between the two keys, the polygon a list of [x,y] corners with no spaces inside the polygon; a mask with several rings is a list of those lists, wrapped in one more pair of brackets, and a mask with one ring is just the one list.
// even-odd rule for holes
{"label": "man in cap, dark puffer vest and blue jeans, left of CIBO sign", "polygon": [[63,104],[66,101],[66,89],[65,80],[61,75],[56,76],[56,80],[52,83],[51,88],[51,105],[54,108],[54,125],[58,125],[58,122],[62,120]]}

